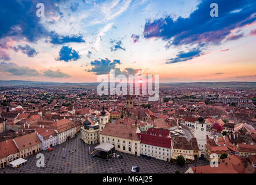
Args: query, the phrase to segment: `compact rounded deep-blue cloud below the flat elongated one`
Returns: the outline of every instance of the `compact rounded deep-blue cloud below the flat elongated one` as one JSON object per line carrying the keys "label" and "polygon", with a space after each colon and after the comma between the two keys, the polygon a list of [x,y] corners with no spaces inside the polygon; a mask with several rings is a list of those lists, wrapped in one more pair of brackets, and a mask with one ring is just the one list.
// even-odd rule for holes
{"label": "compact rounded deep-blue cloud below the flat elongated one", "polygon": [[69,62],[69,61],[76,61],[79,58],[81,58],[81,56],[79,55],[78,51],[73,50],[72,47],[63,46],[60,49],[60,53],[58,53],[57,60]]}

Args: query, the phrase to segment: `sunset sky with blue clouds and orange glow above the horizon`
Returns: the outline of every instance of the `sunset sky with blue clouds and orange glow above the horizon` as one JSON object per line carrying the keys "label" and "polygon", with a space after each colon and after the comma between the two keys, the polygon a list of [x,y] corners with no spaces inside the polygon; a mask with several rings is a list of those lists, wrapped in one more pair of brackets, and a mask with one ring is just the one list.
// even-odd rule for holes
{"label": "sunset sky with blue clouds and orange glow above the horizon", "polygon": [[255,0],[9,0],[0,25],[0,80],[256,82]]}

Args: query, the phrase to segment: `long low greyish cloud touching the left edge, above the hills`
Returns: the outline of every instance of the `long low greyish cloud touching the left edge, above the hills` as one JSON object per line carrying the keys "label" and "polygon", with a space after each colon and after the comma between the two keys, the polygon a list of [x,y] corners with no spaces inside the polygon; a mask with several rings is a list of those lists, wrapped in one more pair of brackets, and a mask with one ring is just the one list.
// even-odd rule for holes
{"label": "long low greyish cloud touching the left edge, above the hills", "polygon": [[31,69],[27,66],[19,66],[13,62],[1,62],[0,72],[9,73],[15,76],[39,76],[40,73],[36,69]]}

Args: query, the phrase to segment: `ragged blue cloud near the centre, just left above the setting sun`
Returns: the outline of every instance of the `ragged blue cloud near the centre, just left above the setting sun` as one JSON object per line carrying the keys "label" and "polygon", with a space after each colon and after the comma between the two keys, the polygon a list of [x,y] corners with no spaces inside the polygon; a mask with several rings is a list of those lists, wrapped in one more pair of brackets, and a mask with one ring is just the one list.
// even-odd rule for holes
{"label": "ragged blue cloud near the centre, just left above the setting sun", "polygon": [[101,60],[94,60],[90,62],[90,65],[93,66],[92,69],[86,70],[87,72],[93,72],[96,75],[108,74],[111,69],[115,69],[116,64],[120,64],[119,60],[108,60],[108,58]]}

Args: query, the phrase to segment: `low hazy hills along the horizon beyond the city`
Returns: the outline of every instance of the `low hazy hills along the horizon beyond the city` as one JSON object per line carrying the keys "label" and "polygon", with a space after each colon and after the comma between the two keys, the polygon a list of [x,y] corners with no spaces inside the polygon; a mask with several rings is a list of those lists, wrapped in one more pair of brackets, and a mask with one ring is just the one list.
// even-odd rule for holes
{"label": "low hazy hills along the horizon beyond the city", "polygon": [[[60,83],[34,82],[25,80],[0,80],[0,86],[63,86],[63,87],[96,87],[99,83]],[[194,83],[160,83],[160,87],[256,87],[256,82],[194,82]]]}

